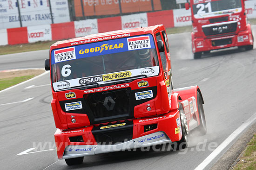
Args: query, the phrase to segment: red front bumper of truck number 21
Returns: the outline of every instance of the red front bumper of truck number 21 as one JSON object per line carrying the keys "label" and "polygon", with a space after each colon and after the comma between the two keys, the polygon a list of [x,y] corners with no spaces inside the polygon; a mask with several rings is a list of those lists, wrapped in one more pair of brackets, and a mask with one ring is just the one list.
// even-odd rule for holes
{"label": "red front bumper of truck number 21", "polygon": [[194,38],[192,39],[192,51],[195,53],[252,44],[253,38],[251,32],[241,31],[236,35],[222,36],[218,38]]}

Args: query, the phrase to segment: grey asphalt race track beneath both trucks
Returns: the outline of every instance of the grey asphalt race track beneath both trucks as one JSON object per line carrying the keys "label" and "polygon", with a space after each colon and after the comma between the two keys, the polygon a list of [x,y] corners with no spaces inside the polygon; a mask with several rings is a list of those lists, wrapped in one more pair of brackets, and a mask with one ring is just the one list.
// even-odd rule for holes
{"label": "grey asphalt race track beneath both trucks", "polygon": [[[253,30],[256,37],[256,27]],[[81,165],[67,166],[64,160],[58,161],[54,150],[56,128],[50,107],[52,96],[47,72],[0,92],[0,169],[195,169],[232,132],[256,113],[256,50],[219,50],[194,60],[189,33],[169,35],[168,39],[174,87],[198,85],[205,101],[208,132],[202,137],[194,137],[188,149],[114,152],[88,156]],[[43,68],[47,57],[48,50],[0,56],[0,70]],[[21,154],[17,155],[19,153]]]}

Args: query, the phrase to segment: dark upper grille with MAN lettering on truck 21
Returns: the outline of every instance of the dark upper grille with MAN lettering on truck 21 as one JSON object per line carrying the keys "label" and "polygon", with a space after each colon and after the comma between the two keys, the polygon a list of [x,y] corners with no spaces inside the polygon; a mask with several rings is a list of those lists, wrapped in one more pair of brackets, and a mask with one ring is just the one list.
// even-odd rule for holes
{"label": "dark upper grille with MAN lettering on truck 21", "polygon": [[202,25],[202,31],[206,36],[212,35],[220,35],[220,34],[227,34],[231,32],[236,32],[237,22],[230,21],[230,22],[223,22],[219,24],[209,24],[209,25]]}

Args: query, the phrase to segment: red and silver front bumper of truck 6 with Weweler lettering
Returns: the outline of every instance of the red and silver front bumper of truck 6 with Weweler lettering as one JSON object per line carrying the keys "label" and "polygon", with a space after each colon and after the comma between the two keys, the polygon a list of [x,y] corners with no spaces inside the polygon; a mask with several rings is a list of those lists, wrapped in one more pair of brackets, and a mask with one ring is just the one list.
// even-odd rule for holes
{"label": "red and silver front bumper of truck 6 with Weweler lettering", "polygon": [[[158,117],[135,119],[133,120],[132,139],[113,145],[99,145],[92,133],[94,126],[69,131],[58,129],[54,134],[57,155],[59,159],[69,159],[179,141],[182,138],[182,130],[177,122],[178,118],[179,111],[166,113]],[[154,124],[157,124],[157,128],[148,132],[144,131],[145,126]],[[70,142],[70,138],[77,136],[82,136],[83,142]]]}

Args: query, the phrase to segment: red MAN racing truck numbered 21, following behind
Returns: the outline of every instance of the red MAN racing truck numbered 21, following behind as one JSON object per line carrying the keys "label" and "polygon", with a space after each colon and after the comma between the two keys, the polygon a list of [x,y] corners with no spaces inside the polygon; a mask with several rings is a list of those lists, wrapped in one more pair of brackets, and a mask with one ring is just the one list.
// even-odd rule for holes
{"label": "red MAN racing truck numbered 21, following behind", "polygon": [[194,58],[202,53],[229,47],[253,49],[251,25],[247,22],[245,0],[190,0]]}

